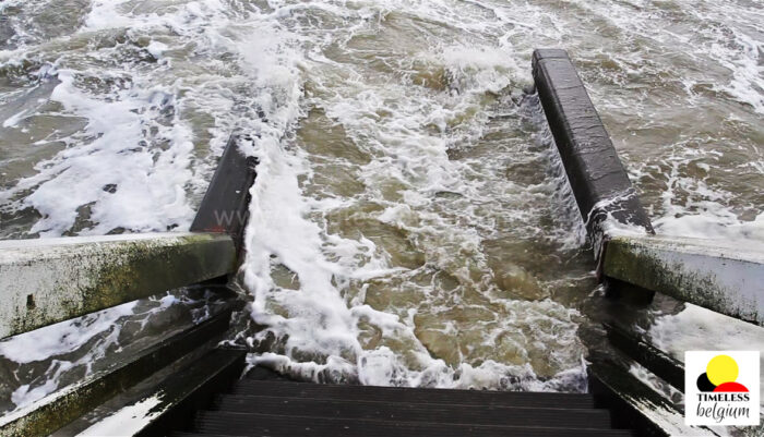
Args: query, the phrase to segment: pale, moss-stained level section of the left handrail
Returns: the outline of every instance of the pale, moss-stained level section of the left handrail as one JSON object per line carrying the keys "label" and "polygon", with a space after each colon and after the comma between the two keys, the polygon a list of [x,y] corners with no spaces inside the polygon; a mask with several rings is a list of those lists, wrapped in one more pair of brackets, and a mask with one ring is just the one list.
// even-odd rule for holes
{"label": "pale, moss-stained level section of the left handrail", "polygon": [[226,234],[0,241],[0,338],[236,269]]}

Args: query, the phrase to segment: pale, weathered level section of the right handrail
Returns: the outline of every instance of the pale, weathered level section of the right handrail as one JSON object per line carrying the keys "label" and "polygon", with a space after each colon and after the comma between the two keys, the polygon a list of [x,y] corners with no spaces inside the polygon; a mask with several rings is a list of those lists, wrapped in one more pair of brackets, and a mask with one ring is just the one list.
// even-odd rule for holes
{"label": "pale, weathered level section of the right handrail", "polygon": [[764,248],[718,240],[616,236],[605,251],[604,272],[764,325]]}

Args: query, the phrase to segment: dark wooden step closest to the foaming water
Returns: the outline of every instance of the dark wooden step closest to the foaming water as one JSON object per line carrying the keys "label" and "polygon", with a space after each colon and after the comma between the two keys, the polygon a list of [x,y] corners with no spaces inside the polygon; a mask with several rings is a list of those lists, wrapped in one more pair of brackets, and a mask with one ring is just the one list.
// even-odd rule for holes
{"label": "dark wooden step closest to the foaming water", "polygon": [[450,403],[485,406],[540,406],[560,409],[594,408],[594,398],[585,393],[487,391],[454,389],[411,389],[403,387],[341,386],[242,379],[234,387],[236,396],[343,399],[359,401]]}

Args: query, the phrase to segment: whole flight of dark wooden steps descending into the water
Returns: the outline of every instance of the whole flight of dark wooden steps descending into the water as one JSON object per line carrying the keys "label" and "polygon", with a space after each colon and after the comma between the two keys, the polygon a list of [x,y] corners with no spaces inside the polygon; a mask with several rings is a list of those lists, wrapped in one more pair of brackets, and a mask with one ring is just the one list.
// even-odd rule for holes
{"label": "whole flight of dark wooden steps descending into the water", "polygon": [[174,437],[634,436],[590,394],[322,385],[255,367]]}

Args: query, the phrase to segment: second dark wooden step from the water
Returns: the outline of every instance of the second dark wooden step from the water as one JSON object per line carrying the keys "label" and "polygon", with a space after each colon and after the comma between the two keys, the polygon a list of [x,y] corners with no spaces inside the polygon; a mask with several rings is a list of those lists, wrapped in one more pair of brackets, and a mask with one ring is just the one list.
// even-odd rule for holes
{"label": "second dark wooden step from the water", "polygon": [[344,399],[223,396],[215,406],[231,413],[256,412],[327,418],[366,418],[396,422],[458,423],[471,425],[610,428],[610,412],[594,409],[485,406],[475,404],[380,402]]}

